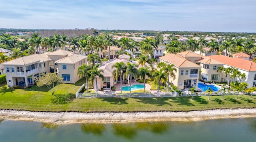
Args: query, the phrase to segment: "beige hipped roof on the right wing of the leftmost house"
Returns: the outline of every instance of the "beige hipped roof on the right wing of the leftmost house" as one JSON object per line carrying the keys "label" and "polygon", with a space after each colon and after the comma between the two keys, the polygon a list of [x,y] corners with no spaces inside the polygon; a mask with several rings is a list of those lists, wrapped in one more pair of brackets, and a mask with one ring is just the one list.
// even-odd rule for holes
{"label": "beige hipped roof on the right wing of the leftmost house", "polygon": [[74,64],[82,59],[85,59],[87,56],[77,55],[77,54],[68,54],[68,57],[64,57],[62,59],[58,59],[54,63],[66,63],[66,64]]}

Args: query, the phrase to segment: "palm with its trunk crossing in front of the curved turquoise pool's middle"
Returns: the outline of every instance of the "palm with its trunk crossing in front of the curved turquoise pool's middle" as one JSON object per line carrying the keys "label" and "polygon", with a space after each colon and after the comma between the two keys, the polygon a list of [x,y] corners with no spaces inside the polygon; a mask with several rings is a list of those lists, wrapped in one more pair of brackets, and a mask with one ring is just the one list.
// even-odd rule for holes
{"label": "palm with its trunk crossing in front of the curved turquoise pool's middle", "polygon": [[136,77],[138,75],[138,65],[133,63],[131,64],[130,62],[126,63],[126,78],[129,77],[130,74],[130,95],[132,95],[132,75],[134,75],[134,77]]}

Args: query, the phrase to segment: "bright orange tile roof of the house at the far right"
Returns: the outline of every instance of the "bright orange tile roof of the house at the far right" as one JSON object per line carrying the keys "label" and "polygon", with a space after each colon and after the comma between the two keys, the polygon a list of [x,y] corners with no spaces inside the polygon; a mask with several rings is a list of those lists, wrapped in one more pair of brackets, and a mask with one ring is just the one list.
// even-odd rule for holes
{"label": "bright orange tile roof of the house at the far right", "polygon": [[246,71],[256,71],[256,63],[254,63],[253,61],[241,59],[240,57],[232,58],[224,55],[212,55],[208,57],[238,69],[243,69]]}

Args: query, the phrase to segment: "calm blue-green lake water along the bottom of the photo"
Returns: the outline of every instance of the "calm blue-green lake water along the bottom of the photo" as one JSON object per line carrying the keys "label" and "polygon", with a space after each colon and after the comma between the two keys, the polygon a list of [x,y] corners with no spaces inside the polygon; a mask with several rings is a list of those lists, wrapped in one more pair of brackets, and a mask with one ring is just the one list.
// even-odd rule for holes
{"label": "calm blue-green lake water along the bottom of the photo", "polygon": [[256,118],[66,124],[2,120],[1,142],[256,142]]}

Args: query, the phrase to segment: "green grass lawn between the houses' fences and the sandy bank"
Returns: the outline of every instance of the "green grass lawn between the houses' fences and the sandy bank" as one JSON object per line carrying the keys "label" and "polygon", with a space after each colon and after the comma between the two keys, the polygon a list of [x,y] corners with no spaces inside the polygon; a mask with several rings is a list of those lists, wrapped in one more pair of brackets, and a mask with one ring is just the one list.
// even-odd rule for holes
{"label": "green grass lawn between the houses' fences and the sandy bank", "polygon": [[[169,97],[169,98],[87,98],[76,99],[75,92],[82,85],[62,84],[55,95],[46,87],[12,89],[0,85],[0,109],[30,111],[78,111],[78,112],[138,112],[138,111],[190,111],[216,108],[253,108],[256,97],[250,95]],[[30,90],[31,89],[31,90]]]}

